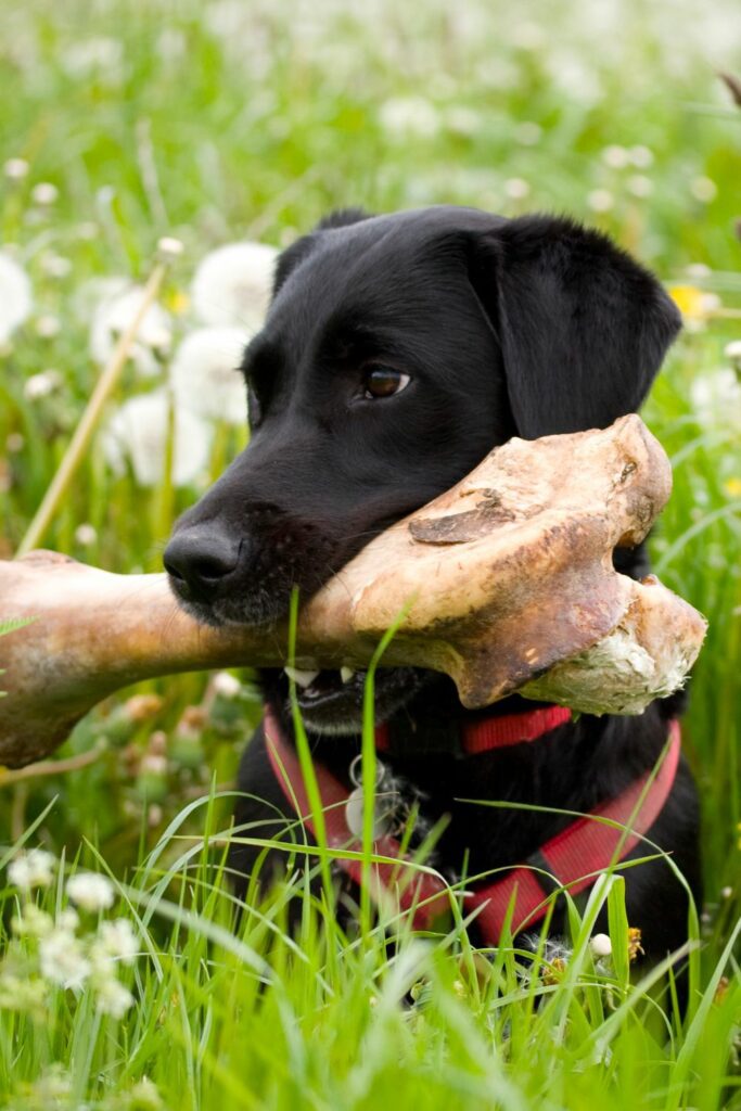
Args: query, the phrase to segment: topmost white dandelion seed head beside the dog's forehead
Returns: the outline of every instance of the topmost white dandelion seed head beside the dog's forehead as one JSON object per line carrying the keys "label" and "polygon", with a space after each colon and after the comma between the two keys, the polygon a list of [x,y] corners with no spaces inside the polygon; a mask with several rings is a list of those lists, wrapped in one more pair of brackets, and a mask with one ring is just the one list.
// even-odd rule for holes
{"label": "topmost white dandelion seed head beside the dog's forehead", "polygon": [[278,249],[267,243],[227,243],[199,263],[191,284],[193,312],[214,328],[262,328]]}

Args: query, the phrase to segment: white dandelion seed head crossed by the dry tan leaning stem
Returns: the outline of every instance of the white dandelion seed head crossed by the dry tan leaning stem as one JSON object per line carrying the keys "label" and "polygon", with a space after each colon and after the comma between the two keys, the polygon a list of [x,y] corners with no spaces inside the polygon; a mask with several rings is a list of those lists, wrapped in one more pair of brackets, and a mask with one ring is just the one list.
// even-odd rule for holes
{"label": "white dandelion seed head crossed by the dry tan leaning stem", "polygon": [[[102,283],[103,297],[98,304],[90,327],[90,353],[96,362],[108,362],[119,338],[138,314],[143,287],[132,286],[126,279],[109,279]],[[144,378],[159,373],[154,353],[164,354],[172,343],[170,314],[160,304],[150,304],[139,324],[137,339],[131,346],[130,359]]]}

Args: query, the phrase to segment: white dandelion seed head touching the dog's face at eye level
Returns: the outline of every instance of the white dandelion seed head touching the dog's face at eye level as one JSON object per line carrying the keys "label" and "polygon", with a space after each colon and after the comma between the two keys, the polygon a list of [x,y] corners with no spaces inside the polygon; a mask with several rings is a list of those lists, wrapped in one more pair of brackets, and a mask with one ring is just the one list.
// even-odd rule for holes
{"label": "white dandelion seed head touching the dog's face at eye level", "polygon": [[187,336],[170,364],[177,407],[209,420],[244,424],[247,390],[237,368],[248,339],[239,328],[200,328]]}

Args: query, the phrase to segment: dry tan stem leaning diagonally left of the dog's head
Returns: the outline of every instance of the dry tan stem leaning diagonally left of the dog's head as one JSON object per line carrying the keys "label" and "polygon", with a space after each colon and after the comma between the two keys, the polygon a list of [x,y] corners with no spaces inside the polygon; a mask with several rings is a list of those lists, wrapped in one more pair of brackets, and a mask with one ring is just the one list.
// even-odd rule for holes
{"label": "dry tan stem leaning diagonally left of the dog's head", "polygon": [[18,546],[18,551],[16,552],[17,559],[21,556],[26,556],[27,552],[38,547],[39,542],[43,539],[51,519],[53,518],[60,501],[64,497],[72,477],[80,466],[82,457],[90,444],[92,434],[96,430],[98,421],[100,420],[103,406],[110,398],[119,378],[121,377],[121,371],[123,370],[127,359],[129,358],[129,352],[131,351],[133,341],[137,338],[137,333],[141,327],[142,320],[144,319],[144,314],[157,299],[162,281],[168,271],[169,261],[170,260],[167,258],[161,258],[156,262],[144,287],[141,297],[141,304],[139,306],[139,309],[129,327],[124,332],[122,332],[110,359],[103,368],[103,372],[96,383],[96,388],[92,391],[87,408],[74,430],[74,434],[70,440],[69,447],[62,457],[62,461],[57,468],[53,479],[49,483],[41,504],[39,506],[33,520],[26,531],[26,536]]}

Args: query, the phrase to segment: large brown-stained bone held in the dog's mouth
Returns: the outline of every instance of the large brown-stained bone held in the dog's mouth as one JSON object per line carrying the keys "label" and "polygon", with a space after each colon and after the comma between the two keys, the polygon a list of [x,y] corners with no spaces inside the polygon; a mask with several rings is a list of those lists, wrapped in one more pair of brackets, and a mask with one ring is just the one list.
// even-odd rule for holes
{"label": "large brown-stained bone held in the dog's mouth", "polygon": [[[671,489],[639,417],[604,431],[511,440],[462,482],[373,540],[302,607],[297,663],[447,672],[467,707],[511,693],[592,713],[639,713],[693,663],[705,622],[655,579],[612,567]],[[141,679],[287,660],[284,627],[212,629],[163,574],[119,575],[51,552],[0,563],[0,761],[50,752],[100,699]]]}

